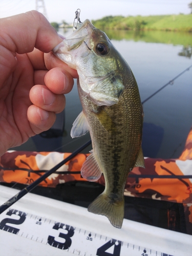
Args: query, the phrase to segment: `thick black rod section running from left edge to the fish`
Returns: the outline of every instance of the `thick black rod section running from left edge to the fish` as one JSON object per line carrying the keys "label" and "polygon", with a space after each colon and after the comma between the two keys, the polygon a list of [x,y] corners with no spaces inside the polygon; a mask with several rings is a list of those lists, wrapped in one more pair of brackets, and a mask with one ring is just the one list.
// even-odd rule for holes
{"label": "thick black rod section running from left edge to the fish", "polygon": [[79,152],[84,150],[87,146],[91,144],[91,140],[88,142],[84,143],[82,146],[77,148],[76,151],[74,151],[69,157],[66,159],[62,160],[60,163],[55,165],[53,168],[48,170],[44,175],[39,177],[37,180],[35,180],[33,183],[25,187],[24,189],[20,190],[19,193],[17,193],[14,197],[10,198],[7,202],[2,204],[0,206],[0,214],[4,212],[6,209],[8,209],[11,205],[13,205],[15,202],[17,202],[20,198],[25,196],[27,193],[29,193],[33,188],[35,188],[41,181],[45,180],[48,176],[50,176],[52,173],[54,173],[58,168],[60,168],[63,164],[67,163],[69,160],[71,160],[73,157],[75,157]]}

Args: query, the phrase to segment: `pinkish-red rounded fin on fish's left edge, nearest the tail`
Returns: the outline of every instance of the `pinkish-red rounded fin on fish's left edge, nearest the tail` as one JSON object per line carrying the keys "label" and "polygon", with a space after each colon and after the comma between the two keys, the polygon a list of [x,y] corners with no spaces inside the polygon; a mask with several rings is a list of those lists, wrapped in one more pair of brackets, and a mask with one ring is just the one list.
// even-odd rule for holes
{"label": "pinkish-red rounded fin on fish's left edge, nearest the tail", "polygon": [[100,167],[95,159],[93,150],[90,151],[91,155],[86,159],[81,168],[81,175],[88,181],[96,181],[101,177]]}

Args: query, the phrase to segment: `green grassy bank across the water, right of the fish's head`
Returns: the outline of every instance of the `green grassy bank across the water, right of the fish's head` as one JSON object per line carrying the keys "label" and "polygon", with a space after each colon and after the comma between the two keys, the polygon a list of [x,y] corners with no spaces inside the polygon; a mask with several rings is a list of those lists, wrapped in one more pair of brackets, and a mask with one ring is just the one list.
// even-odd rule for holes
{"label": "green grassy bank across the water, right of the fish's head", "polygon": [[92,20],[100,29],[116,30],[164,30],[192,32],[192,14],[157,16],[106,16]]}

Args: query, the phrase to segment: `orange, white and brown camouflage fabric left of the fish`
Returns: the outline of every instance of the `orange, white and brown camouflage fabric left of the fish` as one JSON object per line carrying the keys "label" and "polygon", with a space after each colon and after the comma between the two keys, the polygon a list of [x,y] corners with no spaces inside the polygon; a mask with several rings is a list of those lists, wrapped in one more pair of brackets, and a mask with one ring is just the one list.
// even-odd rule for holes
{"label": "orange, white and brown camouflage fabric left of the fish", "polygon": [[[46,170],[51,169],[70,154],[71,153],[58,152],[8,151],[1,158],[2,169],[0,166],[0,182],[18,182],[29,185],[42,176]],[[39,185],[55,187],[59,183],[69,181],[86,181],[86,179],[81,178],[80,173],[73,174],[73,172],[79,172],[88,155],[89,154],[78,154]],[[44,170],[44,172],[42,172],[42,170]],[[62,174],[59,174],[61,172]],[[65,174],[66,172],[70,172],[70,174]]]}

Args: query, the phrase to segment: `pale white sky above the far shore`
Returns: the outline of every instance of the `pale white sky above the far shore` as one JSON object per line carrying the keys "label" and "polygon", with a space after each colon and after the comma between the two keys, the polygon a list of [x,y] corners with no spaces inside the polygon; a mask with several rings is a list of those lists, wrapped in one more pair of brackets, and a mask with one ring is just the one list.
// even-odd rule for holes
{"label": "pale white sky above the far shore", "polygon": [[49,22],[72,23],[79,8],[80,20],[99,19],[109,15],[136,16],[189,14],[192,0],[0,0],[0,18],[36,9],[45,5]]}

